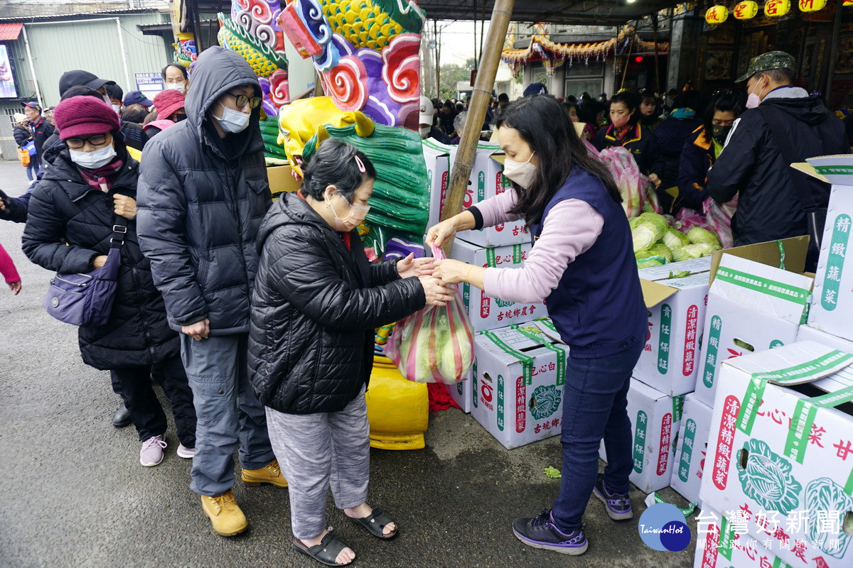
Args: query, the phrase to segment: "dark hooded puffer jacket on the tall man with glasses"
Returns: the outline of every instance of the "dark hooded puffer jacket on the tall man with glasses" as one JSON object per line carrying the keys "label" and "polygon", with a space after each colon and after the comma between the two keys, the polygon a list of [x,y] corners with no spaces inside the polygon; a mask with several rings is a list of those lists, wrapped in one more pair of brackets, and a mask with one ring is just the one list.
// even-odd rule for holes
{"label": "dark hooded puffer jacket on the tall man with glasses", "polygon": [[270,209],[260,107],[220,139],[208,118],[219,96],[258,78],[220,47],[199,55],[187,119],[148,141],[139,178],[139,242],[151,259],[172,329],[210,319],[212,336],[245,333],[258,270],[255,239]]}

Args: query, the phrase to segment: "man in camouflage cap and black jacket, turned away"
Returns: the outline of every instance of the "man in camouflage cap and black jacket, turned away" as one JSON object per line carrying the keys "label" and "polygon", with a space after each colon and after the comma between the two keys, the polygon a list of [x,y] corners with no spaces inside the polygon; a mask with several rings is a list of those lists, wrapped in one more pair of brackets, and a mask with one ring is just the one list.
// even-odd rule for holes
{"label": "man in camouflage cap and black jacket, turned away", "polygon": [[[808,234],[806,211],[827,207],[829,185],[790,164],[850,152],[838,117],[820,98],[793,86],[795,68],[792,55],[769,51],[753,57],[738,79],[746,81],[752,110],[734,122],[706,184],[717,203],[740,193],[732,219],[737,246]],[[823,227],[812,228],[820,234]]]}

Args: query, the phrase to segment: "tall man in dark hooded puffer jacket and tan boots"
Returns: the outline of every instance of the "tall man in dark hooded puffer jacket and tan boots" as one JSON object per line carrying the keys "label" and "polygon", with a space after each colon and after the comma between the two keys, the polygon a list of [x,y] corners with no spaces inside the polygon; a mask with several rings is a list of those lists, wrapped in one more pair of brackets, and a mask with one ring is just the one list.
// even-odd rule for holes
{"label": "tall man in dark hooded puffer jacket and tan boots", "polygon": [[221,47],[195,63],[187,119],[142,152],[137,230],[173,330],[181,333],[198,426],[190,489],[214,531],[247,528],[231,491],[240,445],[246,485],[287,487],[248,378],[249,301],[258,227],[272,204],[258,120],[261,87]]}

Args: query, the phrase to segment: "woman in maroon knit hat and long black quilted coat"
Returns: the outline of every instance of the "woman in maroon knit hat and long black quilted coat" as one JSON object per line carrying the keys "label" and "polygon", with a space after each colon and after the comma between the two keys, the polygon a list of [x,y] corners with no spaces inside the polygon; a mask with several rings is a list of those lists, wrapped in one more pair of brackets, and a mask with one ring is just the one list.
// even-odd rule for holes
{"label": "woman in maroon knit hat and long black quilted coat", "polygon": [[177,333],[165,320],[163,297],[154,288],[148,260],[136,239],[136,160],[119,134],[119,117],[102,100],[75,96],[55,108],[67,148],[56,156],[32,192],[23,249],[41,267],[59,273],[90,273],[103,266],[113,238],[126,227],[118,289],[107,324],[78,328],[84,363],[112,370],[123,389],[142,449],[143,466],[163,461],[166,420],[151,387],[162,377],[172,403],[177,455],[195,446],[193,395],[179,357]]}

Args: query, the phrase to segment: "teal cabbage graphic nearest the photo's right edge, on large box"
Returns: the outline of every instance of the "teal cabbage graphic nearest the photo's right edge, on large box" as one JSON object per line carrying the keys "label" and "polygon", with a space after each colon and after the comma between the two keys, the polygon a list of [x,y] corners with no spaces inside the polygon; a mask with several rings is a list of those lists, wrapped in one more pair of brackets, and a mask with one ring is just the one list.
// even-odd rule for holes
{"label": "teal cabbage graphic nearest the photo's right edge, on large box", "polygon": [[[844,523],[844,513],[853,511],[853,497],[844,493],[844,488],[832,479],[815,479],[805,487],[804,505],[809,509],[809,519],[806,524],[809,541],[818,542],[820,549],[828,556],[844,558],[850,541],[849,535],[840,530]],[[826,515],[827,523],[817,522],[821,515]],[[838,533],[827,531],[827,525],[838,526]]]}

